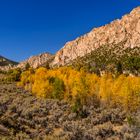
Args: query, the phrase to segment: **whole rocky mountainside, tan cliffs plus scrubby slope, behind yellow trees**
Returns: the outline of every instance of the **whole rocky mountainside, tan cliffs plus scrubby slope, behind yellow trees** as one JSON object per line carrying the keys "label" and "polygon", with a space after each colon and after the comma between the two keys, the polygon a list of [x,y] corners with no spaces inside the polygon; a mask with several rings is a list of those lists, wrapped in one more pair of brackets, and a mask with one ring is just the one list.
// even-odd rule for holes
{"label": "whole rocky mountainside, tan cliffs plus scrubby slope, behind yellow trees", "polygon": [[[88,65],[92,68],[96,67],[98,70],[105,70],[111,65],[114,71],[116,65],[121,62],[123,71],[130,71],[127,66],[127,58],[130,61],[132,59],[132,63],[133,59],[136,59],[136,61],[140,59],[140,7],[133,9],[122,19],[94,28],[89,33],[67,42],[55,55],[42,53],[31,56],[20,62],[17,67],[25,68],[27,64],[33,68],[40,66],[76,66],[77,63],[80,63],[82,65],[80,67],[87,67]],[[9,64],[14,63],[6,59],[0,65]],[[139,63],[136,65],[139,65]],[[140,67],[136,67],[133,73],[138,74]]]}

